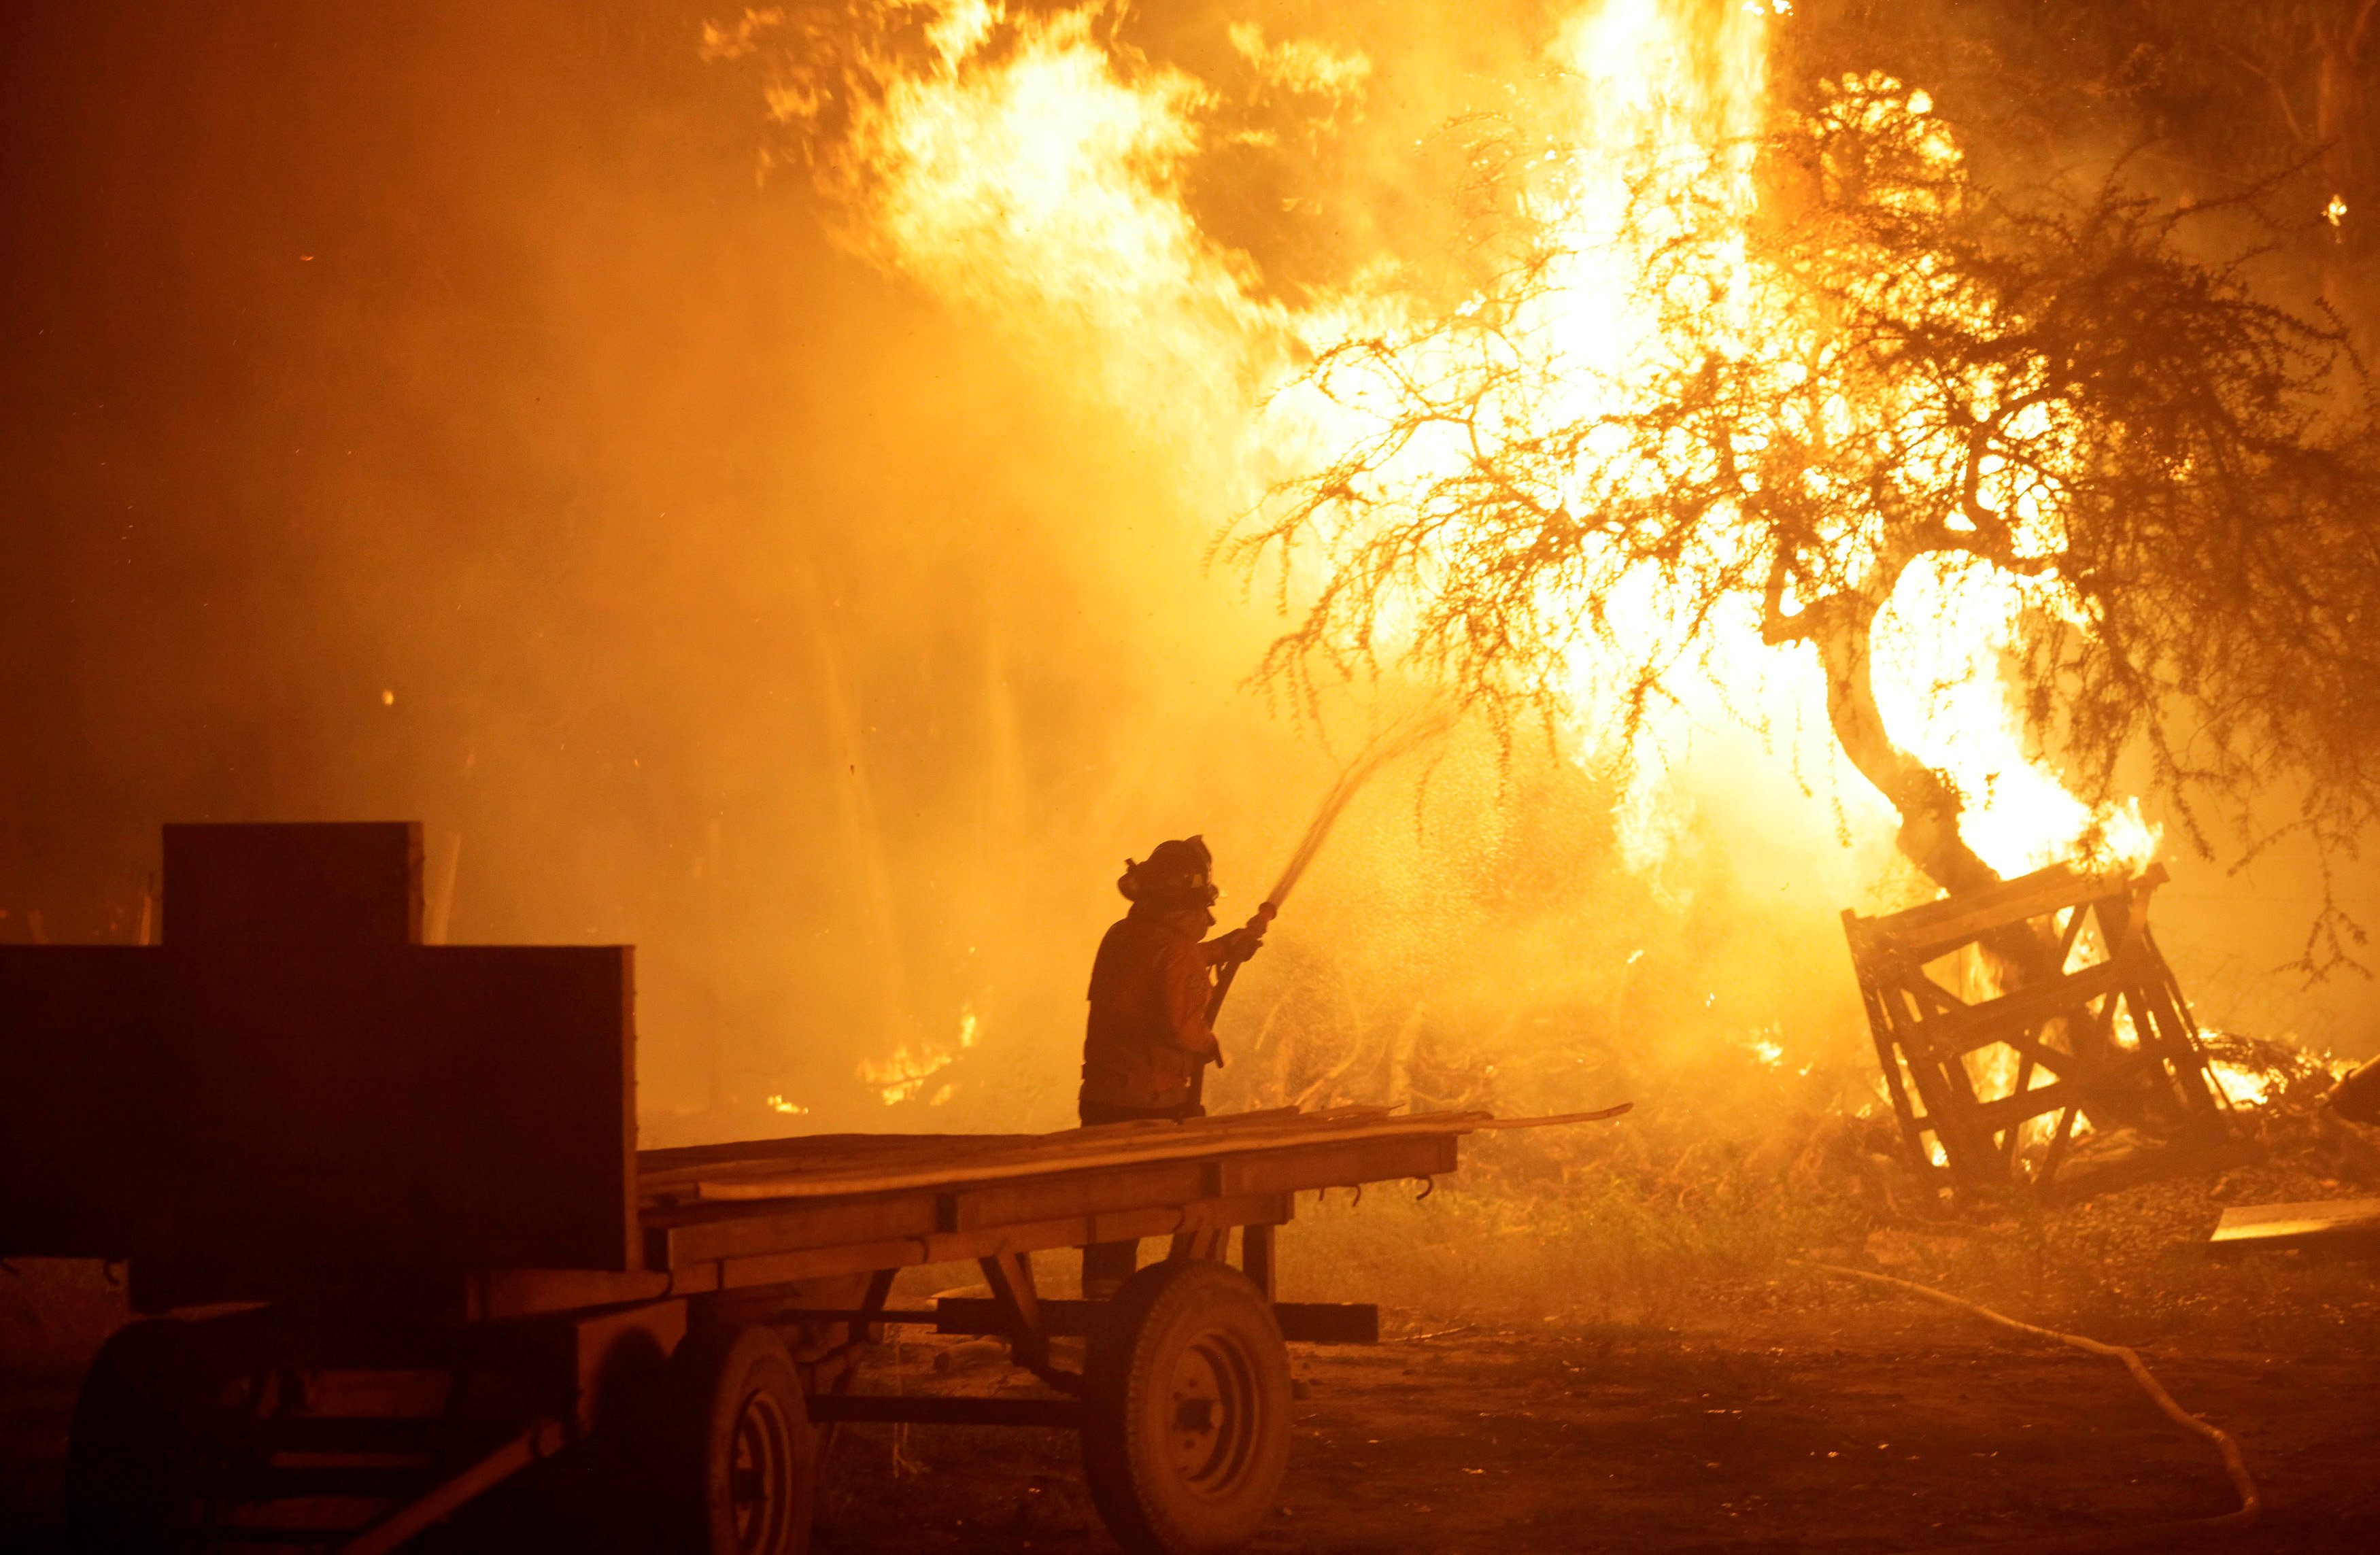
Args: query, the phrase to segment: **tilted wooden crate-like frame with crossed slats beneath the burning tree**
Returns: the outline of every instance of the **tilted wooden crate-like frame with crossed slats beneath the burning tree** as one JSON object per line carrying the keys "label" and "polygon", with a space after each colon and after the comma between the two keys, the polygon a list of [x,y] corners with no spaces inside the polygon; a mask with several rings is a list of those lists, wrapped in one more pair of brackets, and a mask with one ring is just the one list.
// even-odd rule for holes
{"label": "tilted wooden crate-like frame with crossed slats beneath the burning tree", "polygon": [[[2078,1119],[2182,1150],[2228,1141],[2228,1100],[2149,933],[2163,881],[2163,864],[2137,876],[2052,864],[1906,912],[1844,910],[1885,1091],[1923,1179],[1961,1195],[2049,1188]],[[1978,955],[2023,967],[2023,981],[1954,993]]]}

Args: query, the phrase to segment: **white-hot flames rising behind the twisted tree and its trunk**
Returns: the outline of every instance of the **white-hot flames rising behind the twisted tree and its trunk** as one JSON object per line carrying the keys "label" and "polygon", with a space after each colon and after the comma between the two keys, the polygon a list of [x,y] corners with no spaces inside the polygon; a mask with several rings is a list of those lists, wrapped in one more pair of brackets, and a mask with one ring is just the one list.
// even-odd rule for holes
{"label": "white-hot flames rising behind the twisted tree and its trunk", "polygon": [[[1754,214],[1752,133],[1764,114],[1764,17],[1759,7],[1687,26],[1692,10],[1661,0],[1606,0],[1580,12],[1559,45],[1573,81],[1568,150],[1547,150],[1547,169],[1530,191],[1528,217],[1540,224],[1549,255],[1542,286],[1507,298],[1499,329],[1478,341],[1461,333],[1414,336],[1414,350],[1380,367],[1383,381],[1366,386],[1335,381],[1333,398],[1385,424],[1407,393],[1407,376],[1433,383],[1433,398],[1478,405],[1471,426],[1445,424],[1438,441],[1414,438],[1397,467],[1383,472],[1380,493],[1397,500],[1426,491],[1433,479],[1473,457],[1471,436],[1488,445],[1545,445],[1564,426],[1592,421],[1597,412],[1640,405],[1637,383],[1659,383],[1661,367],[1678,350],[1673,324],[1664,319],[1680,293],[1692,298],[1699,341],[1730,357],[1752,360],[1764,371],[1790,379],[1804,355],[1806,329],[1790,310],[1790,279],[1764,276],[1747,260],[1745,224]],[[1904,90],[1885,76],[1844,81],[1837,112],[1864,129],[1894,136],[1925,164],[1954,169],[1959,148],[1930,117],[1921,90]],[[1716,212],[1716,221],[1711,214]],[[1678,255],[1687,255],[1685,262]],[[1647,288],[1642,276],[1656,264],[1671,279]],[[1476,298],[1466,307],[1480,310]],[[1537,355],[1518,376],[1521,391],[1495,398],[1514,383],[1497,352],[1521,343]],[[1490,398],[1466,400],[1466,388],[1490,388]],[[1894,405],[1828,405],[1830,421],[1854,414],[1871,421],[1899,419],[1911,436],[1914,417]],[[2059,438],[2059,426],[2037,417],[2033,436]],[[1664,472],[1645,464],[1611,469],[1621,450],[1583,455],[1580,488],[1547,491],[1545,502],[1592,505],[1647,491]],[[1923,443],[1911,464],[1956,469],[1949,445]],[[1597,467],[1602,464],[1602,467]],[[2018,531],[2018,545],[2040,552],[2056,543],[2044,514],[2016,472],[1997,464],[1983,472]],[[1847,548],[1866,536],[1847,531]],[[1723,576],[1756,560],[1752,538],[1702,536],[1704,555],[1683,564],[1616,564],[1604,572],[1599,605],[1628,643],[1683,643],[1680,619],[1702,591],[1680,588],[1676,572]],[[1966,562],[1966,564],[1959,564]],[[1583,600],[1547,600],[1547,614],[1576,610]],[[2018,710],[2009,702],[1999,664],[2013,652],[2011,624],[2023,612],[2052,612],[2080,624],[2075,605],[2054,581],[2018,579],[1980,562],[1925,557],[1892,588],[1875,633],[1875,691],[1892,738],[1959,788],[1964,833],[2002,874],[2016,874],[2075,853],[2142,864],[2156,850],[2156,831],[2137,803],[2085,805],[2025,750]],[[1825,729],[1823,681],[1806,650],[1790,660],[1766,650],[1747,598],[1723,610],[1716,648],[1699,662],[1702,683],[1676,676],[1666,691],[1678,700],[1652,717],[1649,748],[1690,750],[1697,731],[1728,722],[1759,729]],[[1595,645],[1576,650],[1571,702],[1580,731],[1616,714],[1602,691],[1626,683],[1626,667],[1604,662]],[[1580,736],[1580,750],[1595,741]],[[1676,793],[1664,788],[1668,762],[1640,767],[1621,807],[1623,850],[1647,864],[1666,857],[1685,831]],[[1783,788],[1783,783],[1778,783]],[[1880,824],[1880,795],[1847,795],[1861,822]]]}

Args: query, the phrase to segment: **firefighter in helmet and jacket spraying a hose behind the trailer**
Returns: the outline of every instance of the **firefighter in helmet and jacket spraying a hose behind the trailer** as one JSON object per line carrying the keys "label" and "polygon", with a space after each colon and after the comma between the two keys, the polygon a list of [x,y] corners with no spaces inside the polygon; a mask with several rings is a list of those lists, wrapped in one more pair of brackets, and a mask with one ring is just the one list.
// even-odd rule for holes
{"label": "firefighter in helmet and jacket spraying a hose behind the trailer", "polygon": [[[1207,1024],[1214,969],[1252,957],[1264,931],[1252,924],[1202,938],[1221,895],[1204,838],[1159,843],[1147,860],[1126,860],[1116,891],[1133,907],[1100,941],[1090,967],[1083,1126],[1204,1117],[1200,1069],[1221,1062]],[[1114,1295],[1138,1250],[1130,1241],[1083,1248],[1083,1295]]]}

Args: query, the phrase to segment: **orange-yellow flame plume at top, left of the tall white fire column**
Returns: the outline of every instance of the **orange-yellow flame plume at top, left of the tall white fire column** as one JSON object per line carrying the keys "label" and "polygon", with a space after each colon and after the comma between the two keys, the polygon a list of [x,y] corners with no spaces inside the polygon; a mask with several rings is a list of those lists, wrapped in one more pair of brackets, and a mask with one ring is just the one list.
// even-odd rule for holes
{"label": "orange-yellow flame plume at top, left of the tall white fire column", "polygon": [[[1097,341],[1109,395],[1152,419],[1219,421],[1247,402],[1252,369],[1278,362],[1295,329],[1252,298],[1247,257],[1185,207],[1214,105],[1200,81],[1104,38],[1102,5],[847,0],[843,12],[747,10],[731,29],[704,26],[704,57],[764,62],[769,117],[812,160],[852,250],[1021,341]],[[1357,90],[1368,69],[1266,48],[1257,29],[1233,43],[1326,95]]]}

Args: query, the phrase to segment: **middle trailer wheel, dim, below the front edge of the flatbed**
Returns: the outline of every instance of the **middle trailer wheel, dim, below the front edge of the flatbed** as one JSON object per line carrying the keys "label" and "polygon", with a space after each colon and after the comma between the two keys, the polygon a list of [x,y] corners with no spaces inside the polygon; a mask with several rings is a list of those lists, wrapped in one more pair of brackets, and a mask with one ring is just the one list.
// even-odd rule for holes
{"label": "middle trailer wheel, dim, below the front edge of the flatbed", "polygon": [[685,1555],[804,1555],[816,1453],[785,1341],[690,1336],[669,1360],[664,1517]]}

